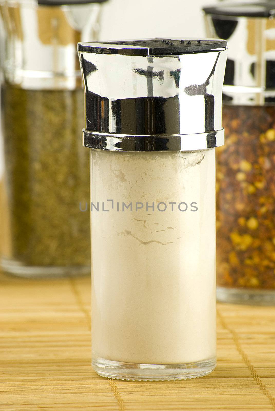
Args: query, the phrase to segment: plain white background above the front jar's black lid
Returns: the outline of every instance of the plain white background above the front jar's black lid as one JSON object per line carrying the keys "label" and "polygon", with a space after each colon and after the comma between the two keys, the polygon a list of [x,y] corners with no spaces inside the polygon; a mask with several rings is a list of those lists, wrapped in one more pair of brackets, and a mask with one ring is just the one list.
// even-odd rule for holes
{"label": "plain white background above the front jar's black lid", "polygon": [[217,0],[111,0],[102,40],[205,36],[201,8]]}

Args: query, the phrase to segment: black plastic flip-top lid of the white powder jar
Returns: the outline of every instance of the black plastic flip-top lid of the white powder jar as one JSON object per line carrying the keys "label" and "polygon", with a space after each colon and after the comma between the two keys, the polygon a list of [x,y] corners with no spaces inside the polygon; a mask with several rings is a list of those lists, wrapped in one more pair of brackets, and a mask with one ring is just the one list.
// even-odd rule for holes
{"label": "black plastic flip-top lid of the white powder jar", "polygon": [[145,39],[120,42],[79,43],[78,51],[122,55],[171,55],[201,53],[226,48],[225,40],[203,39]]}

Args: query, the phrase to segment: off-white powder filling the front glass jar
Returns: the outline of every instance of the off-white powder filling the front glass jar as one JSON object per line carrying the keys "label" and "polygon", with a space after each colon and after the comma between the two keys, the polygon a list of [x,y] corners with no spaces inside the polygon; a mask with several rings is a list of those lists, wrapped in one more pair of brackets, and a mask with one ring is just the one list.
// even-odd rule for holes
{"label": "off-white powder filling the front glass jar", "polygon": [[[148,364],[214,358],[215,149],[91,153],[91,201],[100,207],[91,219],[93,353]],[[133,211],[118,212],[117,202]],[[137,212],[136,202],[144,203]]]}

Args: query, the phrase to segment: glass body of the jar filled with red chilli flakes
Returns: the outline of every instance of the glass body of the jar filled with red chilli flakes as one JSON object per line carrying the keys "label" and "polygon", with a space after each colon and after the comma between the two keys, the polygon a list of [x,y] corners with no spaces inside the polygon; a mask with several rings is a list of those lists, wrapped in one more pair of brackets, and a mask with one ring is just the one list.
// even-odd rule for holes
{"label": "glass body of the jar filled with red chilli flakes", "polygon": [[223,107],[217,148],[217,298],[275,303],[275,107]]}

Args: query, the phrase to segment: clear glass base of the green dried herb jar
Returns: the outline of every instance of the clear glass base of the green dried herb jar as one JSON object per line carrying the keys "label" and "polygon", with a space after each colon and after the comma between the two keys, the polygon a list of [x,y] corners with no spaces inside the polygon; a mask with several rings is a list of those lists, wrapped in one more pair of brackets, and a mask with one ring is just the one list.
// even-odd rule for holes
{"label": "clear glass base of the green dried herb jar", "polygon": [[90,266],[23,266],[16,260],[1,259],[0,269],[5,274],[24,278],[60,278],[89,275]]}

